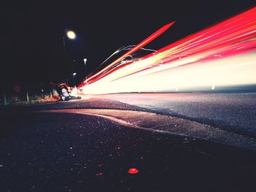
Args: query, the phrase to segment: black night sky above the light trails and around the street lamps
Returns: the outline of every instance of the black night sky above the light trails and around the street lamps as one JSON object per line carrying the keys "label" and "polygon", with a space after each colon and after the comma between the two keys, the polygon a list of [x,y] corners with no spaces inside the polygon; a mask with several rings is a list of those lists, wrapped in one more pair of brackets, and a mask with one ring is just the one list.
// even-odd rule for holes
{"label": "black night sky above the light trails and around the street lamps", "polygon": [[[10,1],[1,3],[1,80],[60,81],[87,74],[118,47],[135,45],[176,20],[146,47],[159,49],[256,5],[255,0],[216,1]],[[66,39],[67,29],[77,39]],[[75,62],[73,62],[75,60]]]}

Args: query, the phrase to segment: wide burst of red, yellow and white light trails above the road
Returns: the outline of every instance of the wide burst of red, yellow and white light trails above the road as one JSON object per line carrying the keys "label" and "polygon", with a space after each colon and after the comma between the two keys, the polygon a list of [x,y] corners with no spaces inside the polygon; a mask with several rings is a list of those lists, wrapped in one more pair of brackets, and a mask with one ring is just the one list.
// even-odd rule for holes
{"label": "wide burst of red, yellow and white light trails above the road", "polygon": [[256,7],[138,61],[121,63],[151,37],[89,77],[79,86],[80,91],[90,94],[189,91],[256,85]]}

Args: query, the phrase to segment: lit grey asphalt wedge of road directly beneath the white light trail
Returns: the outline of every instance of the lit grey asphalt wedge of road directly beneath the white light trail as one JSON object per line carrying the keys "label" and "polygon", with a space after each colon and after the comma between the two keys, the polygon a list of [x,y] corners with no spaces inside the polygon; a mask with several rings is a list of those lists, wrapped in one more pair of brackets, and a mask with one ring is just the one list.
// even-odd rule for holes
{"label": "lit grey asphalt wedge of road directly beneath the white light trail", "polygon": [[131,93],[99,95],[159,114],[256,135],[256,93]]}

